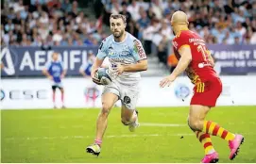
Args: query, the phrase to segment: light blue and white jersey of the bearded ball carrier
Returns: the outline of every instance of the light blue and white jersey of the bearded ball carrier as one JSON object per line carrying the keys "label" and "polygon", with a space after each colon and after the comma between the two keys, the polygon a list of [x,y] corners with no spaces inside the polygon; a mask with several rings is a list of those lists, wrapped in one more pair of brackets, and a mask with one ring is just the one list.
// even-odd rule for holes
{"label": "light blue and white jersey of the bearded ball carrier", "polygon": [[146,59],[145,50],[141,41],[137,40],[127,32],[126,39],[122,42],[116,42],[113,36],[107,37],[99,46],[97,57],[104,59],[109,57],[109,71],[111,78],[123,85],[135,85],[141,79],[141,74],[124,72],[116,76],[115,68],[118,64],[135,64],[139,60]]}

